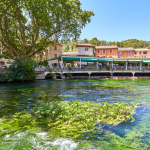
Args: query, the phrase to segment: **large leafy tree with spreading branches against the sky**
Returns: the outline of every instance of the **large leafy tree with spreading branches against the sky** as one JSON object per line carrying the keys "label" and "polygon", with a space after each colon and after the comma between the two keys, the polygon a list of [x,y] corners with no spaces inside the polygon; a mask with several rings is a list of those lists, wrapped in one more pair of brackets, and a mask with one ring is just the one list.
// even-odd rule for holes
{"label": "large leafy tree with spreading branches against the sky", "polygon": [[0,0],[0,41],[13,57],[33,57],[58,38],[78,38],[93,12],[79,0]]}

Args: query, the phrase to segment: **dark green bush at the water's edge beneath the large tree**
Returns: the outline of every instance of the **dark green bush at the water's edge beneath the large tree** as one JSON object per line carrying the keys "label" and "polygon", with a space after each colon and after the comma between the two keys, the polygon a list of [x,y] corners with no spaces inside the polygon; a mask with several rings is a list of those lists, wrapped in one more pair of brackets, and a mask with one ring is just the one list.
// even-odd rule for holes
{"label": "dark green bush at the water's edge beneath the large tree", "polygon": [[34,67],[37,64],[32,59],[22,61],[20,58],[15,58],[13,63],[7,68],[9,72],[0,74],[0,82],[11,81],[31,81],[36,78]]}

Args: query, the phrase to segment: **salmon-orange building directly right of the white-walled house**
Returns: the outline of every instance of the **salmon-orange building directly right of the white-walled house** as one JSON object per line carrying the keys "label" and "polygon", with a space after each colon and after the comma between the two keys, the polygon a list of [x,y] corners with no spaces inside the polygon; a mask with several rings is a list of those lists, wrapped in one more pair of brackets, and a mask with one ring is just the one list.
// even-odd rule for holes
{"label": "salmon-orange building directly right of the white-walled house", "polygon": [[118,58],[118,47],[117,46],[96,46],[95,55],[96,57]]}

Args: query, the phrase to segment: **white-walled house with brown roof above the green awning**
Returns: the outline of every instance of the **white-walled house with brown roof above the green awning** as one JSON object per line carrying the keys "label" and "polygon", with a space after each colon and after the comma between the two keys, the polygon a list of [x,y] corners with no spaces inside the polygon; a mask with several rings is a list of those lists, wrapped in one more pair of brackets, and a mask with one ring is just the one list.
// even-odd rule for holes
{"label": "white-walled house with brown roof above the green awning", "polygon": [[92,44],[77,44],[77,55],[78,56],[94,56],[94,45]]}

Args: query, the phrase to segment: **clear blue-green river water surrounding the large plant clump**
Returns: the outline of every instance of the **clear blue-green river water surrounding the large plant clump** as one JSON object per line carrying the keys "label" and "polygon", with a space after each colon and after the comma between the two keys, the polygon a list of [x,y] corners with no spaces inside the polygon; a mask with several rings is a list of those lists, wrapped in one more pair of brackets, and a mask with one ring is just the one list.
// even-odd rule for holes
{"label": "clear blue-green river water surrounding the large plant clump", "polygon": [[[0,150],[101,150],[150,149],[150,80],[39,80],[0,83],[0,120],[31,109],[36,98],[46,93],[50,101],[93,101],[137,103],[134,122],[102,124],[103,133],[81,139],[47,136],[43,130],[0,134]],[[1,126],[1,124],[0,124]],[[98,125],[97,125],[98,126]],[[0,131],[2,129],[0,128]],[[0,132],[1,133],[1,132]]]}

